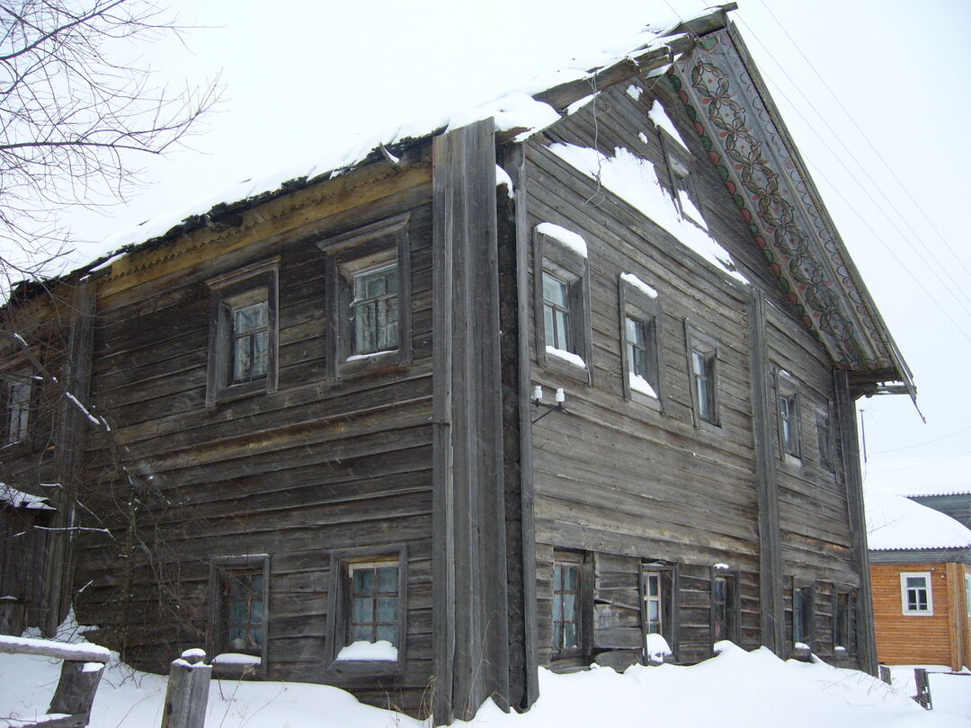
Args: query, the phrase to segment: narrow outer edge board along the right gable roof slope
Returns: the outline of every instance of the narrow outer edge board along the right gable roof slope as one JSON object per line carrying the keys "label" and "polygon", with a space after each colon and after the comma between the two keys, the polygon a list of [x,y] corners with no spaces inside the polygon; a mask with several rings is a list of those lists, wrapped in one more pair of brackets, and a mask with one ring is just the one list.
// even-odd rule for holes
{"label": "narrow outer edge board along the right gable roof slope", "polygon": [[[846,248],[836,224],[829,215],[829,211],[823,204],[819,188],[816,186],[816,182],[813,181],[812,176],[809,174],[809,169],[802,158],[802,154],[799,152],[799,149],[796,148],[792,140],[792,135],[789,133],[786,122],[783,119],[783,116],[779,113],[779,109],[776,106],[775,101],[772,99],[772,96],[768,91],[768,87],[762,79],[761,74],[758,72],[758,68],[755,66],[752,54],[746,46],[745,41],[742,40],[742,36],[738,32],[735,23],[726,18],[724,27],[727,29],[732,44],[745,65],[746,72],[753,81],[753,87],[755,88],[756,93],[759,95],[766,112],[772,119],[772,123],[778,129],[780,140],[786,147],[787,152],[795,164],[802,182],[806,185],[806,190],[813,200],[813,204],[817,208],[820,218],[823,220],[829,234],[832,236],[834,244],[839,249],[840,255],[847,267],[847,271],[850,273],[850,276],[854,281],[854,286],[860,293],[863,305],[866,307],[867,314],[870,315],[870,317],[873,318],[873,320],[877,323],[880,335],[884,340],[883,344],[887,347],[887,352],[889,353],[890,359],[894,365],[895,372],[892,374],[895,376],[895,381],[899,381],[903,384],[904,392],[899,391],[899,387],[893,387],[892,385],[887,386],[887,381],[891,381],[887,378],[887,375],[890,374],[888,372],[851,372],[851,381],[858,383],[860,385],[860,389],[869,390],[874,394],[907,393],[913,400],[914,406],[917,407],[917,385],[914,383],[913,372],[907,365],[900,348],[897,346],[892,335],[890,334],[889,328],[887,327],[887,322],[884,320],[883,315],[880,313],[880,310],[874,303],[869,289],[866,287],[863,278],[859,274],[859,270],[856,268],[853,257]],[[920,409],[918,409],[918,413],[921,413]],[[922,417],[923,415],[921,414],[921,418]]]}

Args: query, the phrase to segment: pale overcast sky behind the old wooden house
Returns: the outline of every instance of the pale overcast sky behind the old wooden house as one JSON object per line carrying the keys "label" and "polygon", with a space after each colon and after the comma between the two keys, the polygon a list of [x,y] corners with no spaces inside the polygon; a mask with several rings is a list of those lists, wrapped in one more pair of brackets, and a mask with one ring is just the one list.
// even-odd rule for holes
{"label": "pale overcast sky behind the old wooden house", "polygon": [[[616,46],[697,0],[178,0],[187,49],[147,60],[175,85],[221,73],[192,149],[150,160],[111,216],[72,215],[76,260],[148,218],[178,221],[238,182],[308,164],[414,118],[448,117]],[[966,0],[740,0],[731,14],[887,326],[909,398],[861,400],[867,483],[971,486],[971,151]],[[918,459],[914,459],[918,458]]]}

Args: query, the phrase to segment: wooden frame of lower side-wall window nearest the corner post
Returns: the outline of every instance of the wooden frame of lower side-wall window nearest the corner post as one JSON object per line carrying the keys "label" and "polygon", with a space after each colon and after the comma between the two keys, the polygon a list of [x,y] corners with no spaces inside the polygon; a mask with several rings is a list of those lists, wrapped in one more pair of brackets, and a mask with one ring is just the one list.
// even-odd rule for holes
{"label": "wooden frame of lower side-wall window nearest the corner post", "polygon": [[[354,565],[398,564],[398,658],[391,660],[338,660],[350,645],[351,574]],[[408,659],[408,546],[363,546],[330,552],[327,623],[324,636],[325,669],[342,675],[399,675]]]}

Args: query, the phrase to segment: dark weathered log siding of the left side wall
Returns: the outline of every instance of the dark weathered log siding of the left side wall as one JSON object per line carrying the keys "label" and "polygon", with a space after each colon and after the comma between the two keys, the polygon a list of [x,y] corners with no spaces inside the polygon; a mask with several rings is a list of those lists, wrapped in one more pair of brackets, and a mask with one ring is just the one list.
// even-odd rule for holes
{"label": "dark weathered log siding of the left side wall", "polygon": [[[409,161],[321,182],[246,213],[238,229],[201,231],[169,255],[149,250],[99,281],[92,399],[112,431],[91,439],[85,480],[115,538],[79,546],[76,582],[91,583],[77,609],[83,623],[125,624],[103,639],[134,664],[161,670],[203,644],[213,557],[265,553],[267,677],[353,685],[365,699],[418,709],[432,674],[432,211],[427,150]],[[402,213],[411,214],[412,362],[328,378],[335,322],[317,242]],[[276,255],[277,389],[207,407],[205,281]],[[126,568],[120,556],[137,559],[141,542],[151,563]],[[403,672],[325,670],[330,552],[398,545],[408,554]]]}

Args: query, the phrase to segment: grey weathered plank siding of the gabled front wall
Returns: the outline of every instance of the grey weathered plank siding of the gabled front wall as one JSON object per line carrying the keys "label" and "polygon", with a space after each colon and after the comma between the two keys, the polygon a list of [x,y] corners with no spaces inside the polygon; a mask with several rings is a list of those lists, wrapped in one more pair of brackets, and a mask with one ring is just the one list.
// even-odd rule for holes
{"label": "grey weathered plank siding of the gabled front wall", "polygon": [[[626,664],[639,657],[637,573],[642,561],[678,564],[679,660],[696,661],[711,654],[710,569],[716,563],[728,564],[739,574],[742,644],[753,647],[762,640],[750,291],[728,281],[723,272],[611,190],[547,149],[563,142],[596,146],[613,156],[616,148],[624,148],[650,160],[658,177],[665,179],[662,143],[647,116],[654,98],[663,101],[692,147],[691,177],[709,229],[769,300],[761,365],[774,441],[769,451],[779,466],[772,477],[779,492],[783,571],[787,577],[820,580],[817,615],[822,626],[814,647],[820,654],[831,654],[832,641],[826,638],[831,634],[826,631],[831,630],[831,586],[854,586],[860,580],[850,550],[843,476],[824,472],[816,446],[813,405],[834,400],[831,363],[820,344],[785,310],[737,207],[705,151],[695,149],[700,143],[686,119],[678,116],[681,105],[665,98],[661,82],[636,83],[636,99],[637,94],[626,91],[627,85],[602,93],[594,104],[526,146],[530,227],[550,221],[586,239],[592,345],[586,352],[591,384],[563,373],[562,367],[540,366],[534,352],[535,383],[548,392],[556,387],[566,391],[565,412],[550,414],[533,428],[541,661],[552,659],[553,547],[594,556],[589,656],[597,662]],[[531,260],[534,273],[536,262]],[[623,397],[621,273],[636,275],[659,294],[663,408]],[[718,427],[694,422],[686,321],[719,345]],[[530,334],[530,341],[537,342],[535,330]],[[778,368],[792,375],[803,403],[801,465],[790,465],[781,457],[775,437],[773,373]],[[780,605],[780,620],[784,609]],[[786,645],[780,648],[785,651]]]}

